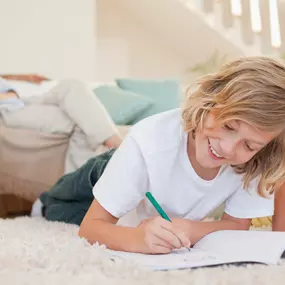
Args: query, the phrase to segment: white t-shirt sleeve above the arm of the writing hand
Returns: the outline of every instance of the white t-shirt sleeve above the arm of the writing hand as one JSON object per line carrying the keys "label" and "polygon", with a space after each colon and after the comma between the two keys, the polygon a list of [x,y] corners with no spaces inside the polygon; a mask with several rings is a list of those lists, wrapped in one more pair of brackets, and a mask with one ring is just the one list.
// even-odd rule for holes
{"label": "white t-shirt sleeve above the arm of the writing hand", "polygon": [[128,135],[93,187],[93,195],[106,211],[120,218],[143,200],[147,185],[142,152],[135,139]]}

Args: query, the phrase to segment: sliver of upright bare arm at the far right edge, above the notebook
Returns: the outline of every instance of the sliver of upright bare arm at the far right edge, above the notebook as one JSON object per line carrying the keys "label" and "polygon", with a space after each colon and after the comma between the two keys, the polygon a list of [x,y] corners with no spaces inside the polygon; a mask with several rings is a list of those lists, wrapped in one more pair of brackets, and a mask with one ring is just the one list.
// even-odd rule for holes
{"label": "sliver of upright bare arm at the far right edge, above the notebook", "polygon": [[285,231],[285,183],[275,193],[275,209],[272,218],[273,231]]}

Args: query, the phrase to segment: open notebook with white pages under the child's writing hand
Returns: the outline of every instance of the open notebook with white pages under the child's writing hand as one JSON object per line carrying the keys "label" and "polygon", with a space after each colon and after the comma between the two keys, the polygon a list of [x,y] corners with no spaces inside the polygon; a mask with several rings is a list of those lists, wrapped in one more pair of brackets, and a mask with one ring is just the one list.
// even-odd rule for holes
{"label": "open notebook with white pages under the child's writing hand", "polygon": [[114,261],[129,260],[154,270],[174,270],[224,264],[277,264],[285,250],[285,232],[218,231],[195,244],[190,251],[140,254],[106,249]]}

